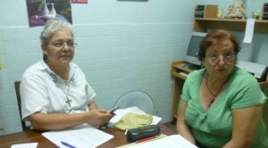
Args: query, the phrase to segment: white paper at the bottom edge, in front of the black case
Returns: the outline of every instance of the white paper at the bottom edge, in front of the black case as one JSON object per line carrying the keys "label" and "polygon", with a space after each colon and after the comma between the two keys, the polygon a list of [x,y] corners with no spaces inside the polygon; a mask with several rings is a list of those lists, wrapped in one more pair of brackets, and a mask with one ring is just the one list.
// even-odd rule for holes
{"label": "white paper at the bottom edge, in front of the black case", "polygon": [[133,144],[128,148],[148,148],[148,147],[166,147],[166,148],[197,148],[180,135],[165,136],[163,138],[145,143]]}

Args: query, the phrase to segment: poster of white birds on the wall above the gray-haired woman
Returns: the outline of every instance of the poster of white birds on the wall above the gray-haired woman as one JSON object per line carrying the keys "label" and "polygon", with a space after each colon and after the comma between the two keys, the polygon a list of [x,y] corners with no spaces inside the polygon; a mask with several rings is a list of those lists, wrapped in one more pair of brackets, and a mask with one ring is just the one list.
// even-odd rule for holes
{"label": "poster of white birds on the wall above the gray-haired woman", "polygon": [[70,0],[26,0],[26,3],[29,27],[44,26],[50,19],[72,23]]}

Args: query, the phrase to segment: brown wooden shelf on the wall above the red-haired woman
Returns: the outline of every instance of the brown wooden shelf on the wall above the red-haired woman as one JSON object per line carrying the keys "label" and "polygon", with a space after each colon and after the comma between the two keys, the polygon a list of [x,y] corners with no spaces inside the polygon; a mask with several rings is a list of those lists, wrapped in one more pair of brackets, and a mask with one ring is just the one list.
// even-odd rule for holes
{"label": "brown wooden shelf on the wall above the red-haired woman", "polygon": [[[234,31],[245,31],[247,20],[239,19],[216,19],[216,18],[195,18],[194,30],[207,32],[207,29],[228,29]],[[255,32],[268,34],[268,21],[256,20]]]}

